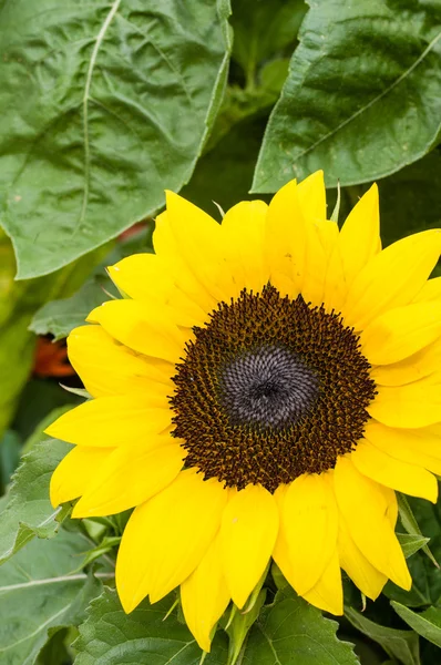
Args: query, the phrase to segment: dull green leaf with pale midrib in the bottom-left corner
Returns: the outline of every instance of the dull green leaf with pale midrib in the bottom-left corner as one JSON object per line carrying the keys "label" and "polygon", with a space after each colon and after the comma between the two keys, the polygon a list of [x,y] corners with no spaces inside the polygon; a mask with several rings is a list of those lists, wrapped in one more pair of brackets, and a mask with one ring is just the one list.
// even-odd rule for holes
{"label": "dull green leaf with pale midrib in the bottom-left corner", "polygon": [[[0,661],[32,665],[61,626],[78,625],[101,582],[79,567],[89,546],[79,533],[61,531],[33,541],[0,569]],[[107,575],[109,576],[109,575]]]}

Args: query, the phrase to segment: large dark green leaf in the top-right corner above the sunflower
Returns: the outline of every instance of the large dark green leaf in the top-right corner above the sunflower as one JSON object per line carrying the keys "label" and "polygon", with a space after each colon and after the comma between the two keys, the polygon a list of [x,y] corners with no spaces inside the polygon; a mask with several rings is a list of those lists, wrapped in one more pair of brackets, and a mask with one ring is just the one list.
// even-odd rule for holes
{"label": "large dark green leaf in the top-right corner above the sunflower", "polygon": [[275,192],[318,168],[328,186],[383,177],[423,156],[440,132],[439,3],[309,4],[255,192]]}

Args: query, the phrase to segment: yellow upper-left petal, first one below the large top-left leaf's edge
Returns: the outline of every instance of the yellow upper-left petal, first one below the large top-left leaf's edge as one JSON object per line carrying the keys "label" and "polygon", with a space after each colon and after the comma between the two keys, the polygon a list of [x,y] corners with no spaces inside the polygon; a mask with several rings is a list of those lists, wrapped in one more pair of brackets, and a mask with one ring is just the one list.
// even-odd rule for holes
{"label": "yellow upper-left petal, first one below the large top-left leaf's edge", "polygon": [[133,254],[107,270],[120,290],[131,298],[167,305],[181,326],[202,325],[206,313],[177,288],[167,267],[155,254]]}

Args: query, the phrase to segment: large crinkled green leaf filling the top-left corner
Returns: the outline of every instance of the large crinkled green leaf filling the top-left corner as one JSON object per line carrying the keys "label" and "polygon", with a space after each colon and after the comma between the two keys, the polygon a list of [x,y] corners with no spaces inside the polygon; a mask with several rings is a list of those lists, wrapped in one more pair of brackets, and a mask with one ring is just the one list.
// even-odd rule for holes
{"label": "large crinkled green leaf filling the top-left corner", "polygon": [[228,64],[228,0],[2,3],[1,224],[19,278],[115,237],[189,178]]}

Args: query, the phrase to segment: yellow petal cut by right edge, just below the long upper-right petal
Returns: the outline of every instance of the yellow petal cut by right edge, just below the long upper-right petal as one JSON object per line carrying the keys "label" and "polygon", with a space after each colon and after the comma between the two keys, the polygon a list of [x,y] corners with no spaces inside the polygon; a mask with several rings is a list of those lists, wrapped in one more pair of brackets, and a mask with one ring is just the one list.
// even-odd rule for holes
{"label": "yellow petal cut by right edge, just below the long upper-right petal", "polygon": [[377,317],[360,335],[371,365],[389,365],[412,356],[441,334],[441,303],[413,303]]}

